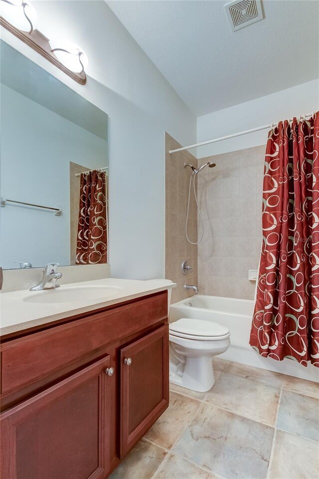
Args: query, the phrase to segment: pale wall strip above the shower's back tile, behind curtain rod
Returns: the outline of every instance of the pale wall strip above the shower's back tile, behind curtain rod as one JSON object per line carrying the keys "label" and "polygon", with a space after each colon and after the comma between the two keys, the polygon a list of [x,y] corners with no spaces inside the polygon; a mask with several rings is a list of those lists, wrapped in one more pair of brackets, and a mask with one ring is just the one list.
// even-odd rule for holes
{"label": "pale wall strip above the shower's back tile, behind curtain rod", "polygon": [[[197,142],[250,130],[317,110],[319,110],[319,80],[313,80],[198,117]],[[262,130],[202,146],[197,148],[197,158],[264,145],[267,143],[267,136],[268,130]]]}

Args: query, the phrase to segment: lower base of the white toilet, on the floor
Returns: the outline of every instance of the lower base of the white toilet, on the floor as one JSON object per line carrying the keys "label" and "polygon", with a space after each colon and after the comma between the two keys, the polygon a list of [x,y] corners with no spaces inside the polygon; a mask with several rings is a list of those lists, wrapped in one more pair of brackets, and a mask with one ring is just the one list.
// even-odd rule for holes
{"label": "lower base of the white toilet, on the floor", "polygon": [[198,392],[209,391],[214,383],[213,362],[210,356],[185,357],[185,362],[169,362],[169,382]]}

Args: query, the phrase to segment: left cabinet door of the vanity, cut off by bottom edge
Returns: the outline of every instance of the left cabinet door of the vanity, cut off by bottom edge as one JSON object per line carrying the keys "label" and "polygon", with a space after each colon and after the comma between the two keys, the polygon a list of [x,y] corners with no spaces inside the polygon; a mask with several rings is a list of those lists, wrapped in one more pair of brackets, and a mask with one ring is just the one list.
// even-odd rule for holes
{"label": "left cabinet door of the vanity, cut off by bottom edge", "polygon": [[99,479],[109,472],[109,356],[5,411],[2,479]]}

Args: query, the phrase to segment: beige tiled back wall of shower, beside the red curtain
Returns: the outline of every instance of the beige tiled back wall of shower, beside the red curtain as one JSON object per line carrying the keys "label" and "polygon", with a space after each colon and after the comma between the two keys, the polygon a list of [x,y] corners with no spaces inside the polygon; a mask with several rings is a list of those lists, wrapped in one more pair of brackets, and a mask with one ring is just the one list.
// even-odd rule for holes
{"label": "beige tiled back wall of shower, beside the red curtain", "polygon": [[[198,175],[204,238],[198,245],[198,287],[202,294],[253,299],[262,241],[262,182],[266,146],[198,160],[213,161]],[[198,220],[198,235],[200,222]]]}

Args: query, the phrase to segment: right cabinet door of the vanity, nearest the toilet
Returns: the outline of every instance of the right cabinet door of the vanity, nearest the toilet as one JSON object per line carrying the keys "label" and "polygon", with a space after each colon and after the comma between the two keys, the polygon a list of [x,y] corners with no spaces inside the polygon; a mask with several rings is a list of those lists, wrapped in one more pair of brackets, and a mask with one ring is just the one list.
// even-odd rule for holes
{"label": "right cabinet door of the vanity, nearest the toilet", "polygon": [[121,458],[168,406],[168,325],[121,349]]}

